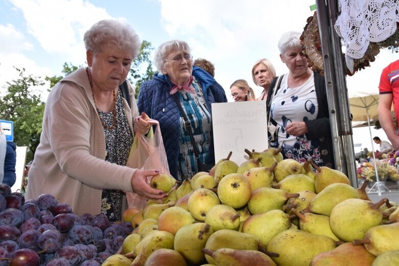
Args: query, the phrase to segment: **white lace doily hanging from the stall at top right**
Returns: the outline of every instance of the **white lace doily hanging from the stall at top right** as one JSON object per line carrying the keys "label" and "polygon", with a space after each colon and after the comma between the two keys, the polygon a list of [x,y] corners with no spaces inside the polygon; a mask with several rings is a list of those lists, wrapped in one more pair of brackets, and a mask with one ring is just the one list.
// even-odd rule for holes
{"label": "white lace doily hanging from the stall at top right", "polygon": [[370,41],[381,42],[395,33],[399,0],[338,0],[338,3],[341,14],[335,30],[346,47],[346,66],[353,73],[354,58],[364,56]]}

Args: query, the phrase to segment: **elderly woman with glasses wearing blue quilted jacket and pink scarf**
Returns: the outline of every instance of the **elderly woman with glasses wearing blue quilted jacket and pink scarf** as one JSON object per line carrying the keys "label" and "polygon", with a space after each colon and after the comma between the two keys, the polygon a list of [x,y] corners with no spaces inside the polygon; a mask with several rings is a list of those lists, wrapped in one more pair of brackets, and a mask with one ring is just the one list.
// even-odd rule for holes
{"label": "elderly woman with glasses wearing blue quilted jacket and pink scarf", "polygon": [[[192,177],[198,172],[188,130],[200,161],[215,163],[211,104],[227,102],[226,93],[204,69],[193,66],[190,47],[184,41],[159,45],[154,64],[159,73],[140,86],[137,105],[140,112],[159,121],[170,174],[183,180],[184,175]],[[185,127],[184,115],[191,128]]]}

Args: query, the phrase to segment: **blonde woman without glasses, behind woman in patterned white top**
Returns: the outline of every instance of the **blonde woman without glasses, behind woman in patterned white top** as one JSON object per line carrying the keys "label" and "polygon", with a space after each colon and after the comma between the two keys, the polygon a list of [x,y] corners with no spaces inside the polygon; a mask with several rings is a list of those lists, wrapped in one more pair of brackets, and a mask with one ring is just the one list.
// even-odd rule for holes
{"label": "blonde woman without glasses, behind woman in patterned white top", "polygon": [[266,101],[270,83],[276,77],[273,64],[267,59],[257,60],[252,67],[252,80],[256,85],[263,87],[263,91],[257,101]]}

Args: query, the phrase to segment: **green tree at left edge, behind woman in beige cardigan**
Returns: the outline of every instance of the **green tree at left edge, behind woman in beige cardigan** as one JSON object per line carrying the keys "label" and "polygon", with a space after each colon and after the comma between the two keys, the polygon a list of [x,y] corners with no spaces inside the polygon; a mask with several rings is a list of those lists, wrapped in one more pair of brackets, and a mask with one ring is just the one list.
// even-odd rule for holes
{"label": "green tree at left edge, behind woman in beige cardigan", "polygon": [[14,123],[14,142],[28,146],[27,161],[39,144],[44,103],[38,86],[44,85],[40,77],[25,76],[25,69],[15,68],[19,78],[7,82],[7,93],[0,98],[0,117]]}

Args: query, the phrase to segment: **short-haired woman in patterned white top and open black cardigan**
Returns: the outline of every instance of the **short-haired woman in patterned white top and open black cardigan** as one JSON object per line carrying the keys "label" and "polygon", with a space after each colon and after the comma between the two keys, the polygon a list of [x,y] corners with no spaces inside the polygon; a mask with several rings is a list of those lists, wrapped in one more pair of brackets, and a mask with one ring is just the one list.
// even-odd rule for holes
{"label": "short-haired woman in patterned white top and open black cardigan", "polygon": [[304,162],[309,158],[319,166],[334,168],[324,77],[308,67],[299,37],[299,32],[287,32],[278,41],[280,59],[289,71],[280,83],[277,78],[272,81],[267,95],[269,146],[281,148],[285,159]]}

